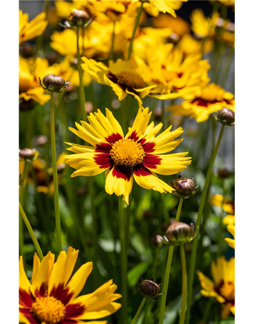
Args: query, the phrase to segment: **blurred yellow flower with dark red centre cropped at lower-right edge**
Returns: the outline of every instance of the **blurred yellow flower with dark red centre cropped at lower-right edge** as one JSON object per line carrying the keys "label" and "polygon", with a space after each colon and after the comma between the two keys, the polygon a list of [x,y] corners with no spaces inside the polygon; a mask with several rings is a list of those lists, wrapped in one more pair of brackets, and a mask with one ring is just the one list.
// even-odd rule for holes
{"label": "blurred yellow flower with dark red centre cropped at lower-right edge", "polygon": [[235,259],[220,257],[217,264],[212,262],[211,270],[214,282],[197,270],[200,292],[204,297],[216,298],[222,304],[222,318],[226,318],[230,311],[235,313]]}

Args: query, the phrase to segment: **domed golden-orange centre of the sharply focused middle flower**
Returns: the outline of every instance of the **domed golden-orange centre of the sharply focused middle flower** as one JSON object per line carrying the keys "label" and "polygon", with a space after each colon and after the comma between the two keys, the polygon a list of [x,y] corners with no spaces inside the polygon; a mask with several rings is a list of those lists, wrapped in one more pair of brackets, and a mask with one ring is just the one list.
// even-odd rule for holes
{"label": "domed golden-orange centre of the sharply focused middle flower", "polygon": [[115,164],[133,167],[142,163],[145,152],[141,144],[132,139],[122,139],[115,142],[110,150]]}

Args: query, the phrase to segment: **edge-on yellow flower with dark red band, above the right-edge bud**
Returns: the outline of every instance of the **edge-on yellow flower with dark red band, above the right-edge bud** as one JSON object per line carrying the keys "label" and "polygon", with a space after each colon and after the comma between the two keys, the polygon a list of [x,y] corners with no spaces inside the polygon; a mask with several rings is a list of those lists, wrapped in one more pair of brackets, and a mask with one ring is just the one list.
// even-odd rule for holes
{"label": "edge-on yellow flower with dark red band, above the right-edge bud", "polygon": [[227,107],[234,111],[234,95],[226,92],[222,87],[211,83],[194,94],[189,95],[180,105],[170,106],[167,109],[176,115],[190,116],[198,123],[208,119],[209,115],[219,109]]}

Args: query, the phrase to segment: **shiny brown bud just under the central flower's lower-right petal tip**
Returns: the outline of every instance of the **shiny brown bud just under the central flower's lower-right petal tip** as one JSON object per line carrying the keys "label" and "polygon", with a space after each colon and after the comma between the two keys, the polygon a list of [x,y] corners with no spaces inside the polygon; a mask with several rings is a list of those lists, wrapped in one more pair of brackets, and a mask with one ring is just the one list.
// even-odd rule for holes
{"label": "shiny brown bud just under the central flower's lower-right petal tip", "polygon": [[181,175],[178,176],[178,179],[174,182],[170,181],[172,187],[175,189],[173,194],[176,197],[187,199],[192,197],[200,187],[200,185],[195,186],[194,179],[181,178]]}

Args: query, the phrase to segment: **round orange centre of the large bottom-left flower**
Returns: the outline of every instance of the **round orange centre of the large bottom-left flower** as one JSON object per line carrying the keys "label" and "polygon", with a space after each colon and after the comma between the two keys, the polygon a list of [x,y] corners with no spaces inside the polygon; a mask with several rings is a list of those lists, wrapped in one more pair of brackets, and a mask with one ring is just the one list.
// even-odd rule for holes
{"label": "round orange centre of the large bottom-left flower", "polygon": [[55,297],[47,296],[36,298],[31,306],[31,312],[39,322],[58,324],[65,317],[66,307]]}

